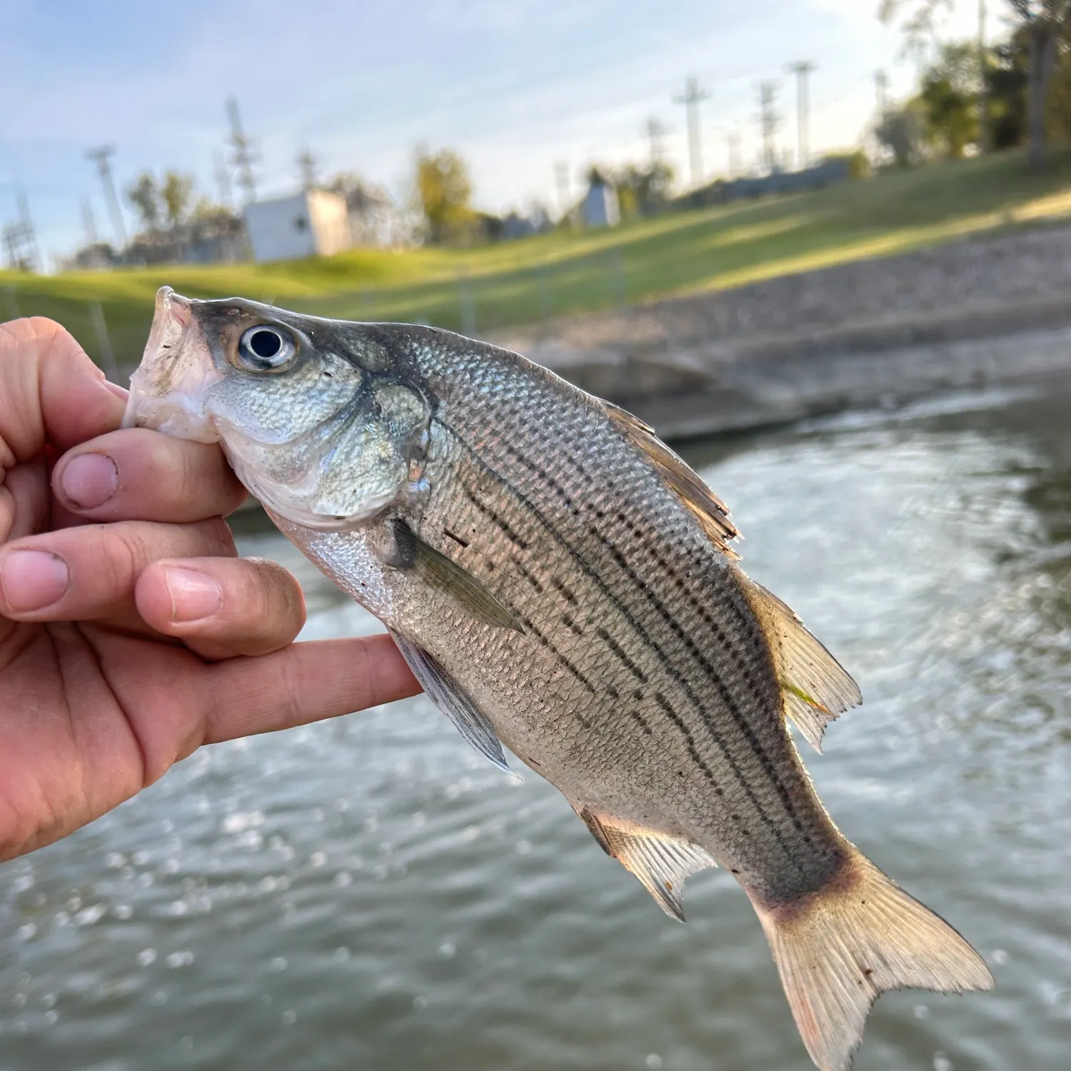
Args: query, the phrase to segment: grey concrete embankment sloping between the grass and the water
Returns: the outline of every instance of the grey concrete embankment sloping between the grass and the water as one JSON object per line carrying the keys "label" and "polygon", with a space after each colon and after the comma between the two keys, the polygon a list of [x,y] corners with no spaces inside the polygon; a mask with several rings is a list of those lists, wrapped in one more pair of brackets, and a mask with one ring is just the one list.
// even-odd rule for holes
{"label": "grey concrete embankment sloping between the grass and the water", "polygon": [[493,340],[667,438],[1071,371],[1071,227],[857,261]]}

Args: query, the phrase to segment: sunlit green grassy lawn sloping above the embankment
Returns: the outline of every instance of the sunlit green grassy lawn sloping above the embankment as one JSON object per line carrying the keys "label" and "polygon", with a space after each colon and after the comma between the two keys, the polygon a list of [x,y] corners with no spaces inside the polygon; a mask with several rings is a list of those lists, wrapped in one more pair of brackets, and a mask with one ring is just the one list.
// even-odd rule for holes
{"label": "sunlit green grassy lawn sloping above the embankment", "polygon": [[145,345],[153,293],[241,295],[352,319],[484,334],[513,323],[739,286],[974,233],[1071,217],[1071,150],[1041,174],[1019,152],[477,250],[361,250],[273,265],[188,265],[58,276],[0,272],[0,318],[51,316],[94,357],[100,302],[121,363]]}

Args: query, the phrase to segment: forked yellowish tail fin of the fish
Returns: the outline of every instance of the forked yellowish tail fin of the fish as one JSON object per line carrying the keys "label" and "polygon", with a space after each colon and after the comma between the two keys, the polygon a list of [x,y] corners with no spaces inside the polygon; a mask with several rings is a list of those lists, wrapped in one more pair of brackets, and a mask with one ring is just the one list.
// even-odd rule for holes
{"label": "forked yellowish tail fin of the fish", "polygon": [[944,919],[849,847],[842,876],[801,901],[755,904],[811,1059],[847,1071],[886,990],[993,989],[981,956]]}

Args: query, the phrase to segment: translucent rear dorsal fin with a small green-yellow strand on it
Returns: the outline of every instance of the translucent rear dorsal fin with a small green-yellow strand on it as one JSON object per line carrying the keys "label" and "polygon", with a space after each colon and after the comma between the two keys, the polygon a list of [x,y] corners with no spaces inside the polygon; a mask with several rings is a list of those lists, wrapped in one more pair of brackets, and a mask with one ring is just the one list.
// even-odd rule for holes
{"label": "translucent rear dorsal fin with a small green-yellow strand on it", "polygon": [[752,609],[773,651],[785,697],[785,713],[815,751],[821,751],[826,726],[863,702],[847,670],[811,635],[795,612],[775,594],[740,574]]}

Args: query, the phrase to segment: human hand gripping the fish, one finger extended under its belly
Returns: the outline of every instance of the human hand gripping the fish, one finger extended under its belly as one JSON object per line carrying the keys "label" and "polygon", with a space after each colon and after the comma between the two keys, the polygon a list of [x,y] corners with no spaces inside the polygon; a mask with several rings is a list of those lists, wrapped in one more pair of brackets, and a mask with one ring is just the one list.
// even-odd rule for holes
{"label": "human hand gripping the fish, one finger extended under its belly", "polygon": [[292,643],[301,589],[237,557],[221,451],[116,431],[124,394],[59,325],[0,325],[0,859],[201,744],[419,691],[387,636]]}

